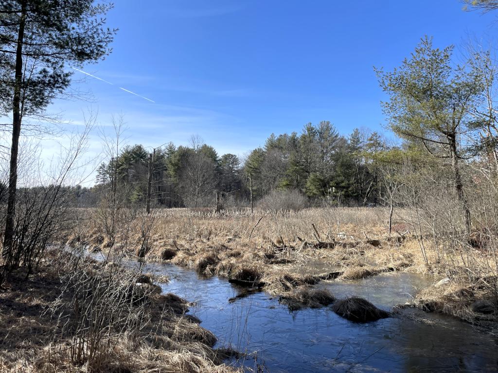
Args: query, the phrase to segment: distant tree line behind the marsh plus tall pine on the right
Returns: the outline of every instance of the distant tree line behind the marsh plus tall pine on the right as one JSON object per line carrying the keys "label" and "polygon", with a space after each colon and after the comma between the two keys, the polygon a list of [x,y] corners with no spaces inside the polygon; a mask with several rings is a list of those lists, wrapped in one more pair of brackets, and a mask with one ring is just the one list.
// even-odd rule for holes
{"label": "distant tree line behind the marsh plus tall pine on the right", "polygon": [[433,190],[434,200],[444,194],[451,202],[468,234],[481,213],[476,202],[485,205],[475,196],[486,191],[494,201],[498,68],[479,46],[457,57],[453,51],[424,37],[396,69],[375,69],[396,144],[359,129],[341,135],[322,121],[300,133],[271,134],[243,159],[219,156],[196,138],[190,146],[170,143],[153,152],[134,145],[100,166],[90,194],[116,185],[130,203],[220,209],[252,207],[276,191],[292,191],[306,196],[307,205],[382,202],[392,211],[410,203],[430,207],[420,193]]}

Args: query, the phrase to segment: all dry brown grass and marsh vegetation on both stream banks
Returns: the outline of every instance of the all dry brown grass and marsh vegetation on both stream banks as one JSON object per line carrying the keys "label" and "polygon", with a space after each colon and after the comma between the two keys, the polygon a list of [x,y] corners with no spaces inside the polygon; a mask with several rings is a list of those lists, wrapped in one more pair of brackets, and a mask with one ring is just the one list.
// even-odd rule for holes
{"label": "all dry brown grass and marsh vegetation on both stream banks", "polygon": [[[29,279],[19,270],[4,283],[2,372],[237,372],[224,362],[241,357],[239,352],[213,348],[216,336],[187,314],[188,299],[161,294],[157,283],[168,279],[142,273],[149,262],[235,280],[249,286],[248,294],[267,291],[289,311],[327,306],[352,322],[371,322],[402,318],[402,308],[417,307],[488,333],[497,330],[496,277],[486,272],[490,253],[473,254],[479,278],[463,276],[461,253],[441,258],[428,243],[426,263],[412,234],[386,233],[385,208],[258,210],[254,215],[125,209],[114,242],[102,234],[102,211],[73,213],[76,229],[58,237],[59,245],[47,250]],[[401,221],[395,220],[397,228],[404,228]],[[101,252],[103,260],[79,257],[68,247],[74,253]],[[129,260],[142,265],[130,268]],[[314,286],[400,271],[435,280],[392,312],[355,296],[336,299]]]}

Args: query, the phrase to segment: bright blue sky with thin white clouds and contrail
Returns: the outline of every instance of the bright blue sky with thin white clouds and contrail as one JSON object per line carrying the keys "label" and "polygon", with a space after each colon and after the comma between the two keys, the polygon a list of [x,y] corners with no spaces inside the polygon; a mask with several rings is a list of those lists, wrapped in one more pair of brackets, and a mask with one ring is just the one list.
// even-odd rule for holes
{"label": "bright blue sky with thin white clouds and contrail", "polygon": [[[122,113],[130,144],[186,144],[200,135],[242,155],[274,132],[330,120],[341,133],[382,130],[373,66],[392,69],[424,35],[437,46],[498,35],[498,12],[465,12],[458,0],[117,0],[119,27],[105,61],[76,72],[92,101],[50,107],[74,124]],[[495,44],[497,45],[497,44]],[[127,93],[120,87],[155,102]],[[68,128],[71,126],[68,126]],[[99,151],[98,137],[92,152]]]}

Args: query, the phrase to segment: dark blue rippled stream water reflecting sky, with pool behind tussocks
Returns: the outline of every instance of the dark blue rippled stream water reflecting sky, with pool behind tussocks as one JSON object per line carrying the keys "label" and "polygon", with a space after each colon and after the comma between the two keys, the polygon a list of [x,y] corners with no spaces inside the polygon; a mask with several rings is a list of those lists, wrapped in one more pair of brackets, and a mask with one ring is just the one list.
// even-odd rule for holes
{"label": "dark blue rippled stream water reflecting sky, with pool behind tussocks", "polygon": [[[438,319],[437,326],[389,318],[356,324],[330,308],[290,313],[264,292],[229,303],[240,289],[218,278],[200,279],[193,271],[172,265],[148,265],[167,273],[163,290],[196,301],[191,313],[213,331],[220,346],[248,353],[258,351],[269,372],[494,372],[498,370],[497,343],[470,325],[450,317],[419,313]],[[379,307],[405,302],[414,287],[432,282],[412,274],[380,275],[351,282],[325,281],[337,297],[360,295]],[[254,361],[248,359],[247,366]]]}

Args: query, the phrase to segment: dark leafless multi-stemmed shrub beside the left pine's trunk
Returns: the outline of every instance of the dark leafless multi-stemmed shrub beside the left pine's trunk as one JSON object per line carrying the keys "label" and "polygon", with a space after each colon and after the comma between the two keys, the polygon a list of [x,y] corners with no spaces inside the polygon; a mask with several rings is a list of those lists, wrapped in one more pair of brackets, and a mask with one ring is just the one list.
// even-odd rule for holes
{"label": "dark leafless multi-stemmed shrub beside the left pine's trunk", "polygon": [[[28,277],[38,264],[48,244],[68,229],[72,218],[71,188],[79,184],[78,161],[85,151],[89,132],[96,117],[91,116],[81,133],[68,138],[69,146],[59,155],[58,162],[44,169],[39,156],[40,144],[27,149],[30,164],[20,162],[18,196],[15,204],[12,240],[2,249],[0,284],[14,270],[24,267]],[[26,156],[26,155],[24,155]],[[38,167],[33,167],[38,162]]]}

